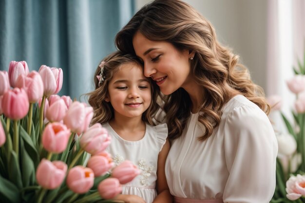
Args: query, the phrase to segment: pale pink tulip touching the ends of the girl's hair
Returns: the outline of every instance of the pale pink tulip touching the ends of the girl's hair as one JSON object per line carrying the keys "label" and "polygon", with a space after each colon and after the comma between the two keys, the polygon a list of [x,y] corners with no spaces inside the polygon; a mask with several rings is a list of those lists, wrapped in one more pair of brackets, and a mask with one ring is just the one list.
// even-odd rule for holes
{"label": "pale pink tulip touching the ends of the girl's hair", "polygon": [[88,129],[92,117],[92,107],[87,107],[85,103],[75,101],[70,105],[63,122],[72,132],[81,134]]}

